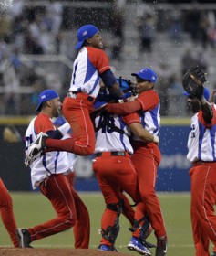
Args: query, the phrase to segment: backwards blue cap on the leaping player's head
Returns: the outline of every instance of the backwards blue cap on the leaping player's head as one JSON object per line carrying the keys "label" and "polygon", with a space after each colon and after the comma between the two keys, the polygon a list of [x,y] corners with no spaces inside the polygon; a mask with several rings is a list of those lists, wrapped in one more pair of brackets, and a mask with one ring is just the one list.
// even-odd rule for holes
{"label": "backwards blue cap on the leaping player's head", "polygon": [[96,33],[99,32],[98,27],[95,27],[94,25],[84,25],[83,27],[80,27],[77,30],[77,46],[76,49],[79,49],[82,47],[84,41],[89,38],[93,37]]}

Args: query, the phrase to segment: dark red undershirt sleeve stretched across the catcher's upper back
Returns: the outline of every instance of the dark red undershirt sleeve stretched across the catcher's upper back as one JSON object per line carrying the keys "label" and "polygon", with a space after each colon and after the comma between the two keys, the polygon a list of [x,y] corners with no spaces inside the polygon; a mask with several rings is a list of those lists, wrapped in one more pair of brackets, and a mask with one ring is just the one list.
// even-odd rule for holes
{"label": "dark red undershirt sleeve stretched across the catcher's upper back", "polygon": [[126,115],[132,112],[141,110],[139,101],[130,101],[126,103],[108,103],[105,106],[107,112],[115,113],[118,115]]}

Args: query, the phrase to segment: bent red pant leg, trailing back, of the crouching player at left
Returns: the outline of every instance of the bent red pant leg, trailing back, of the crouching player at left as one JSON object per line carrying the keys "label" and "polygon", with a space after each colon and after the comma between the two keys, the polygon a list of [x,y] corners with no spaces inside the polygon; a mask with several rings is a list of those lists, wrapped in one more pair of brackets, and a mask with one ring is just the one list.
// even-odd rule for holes
{"label": "bent red pant leg, trailing back, of the crouching player at left", "polygon": [[67,176],[63,174],[49,176],[46,185],[41,185],[40,190],[50,200],[57,212],[57,218],[28,229],[31,241],[57,234],[75,226],[77,222],[75,191],[69,184]]}

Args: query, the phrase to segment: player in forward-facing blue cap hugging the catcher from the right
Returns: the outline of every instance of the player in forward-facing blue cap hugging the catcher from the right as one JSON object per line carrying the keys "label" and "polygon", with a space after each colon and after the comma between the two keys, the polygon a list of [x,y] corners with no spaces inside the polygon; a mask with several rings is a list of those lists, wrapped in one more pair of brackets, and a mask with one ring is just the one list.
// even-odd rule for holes
{"label": "player in forward-facing blue cap hugging the catcher from the right", "polygon": [[[157,74],[152,69],[144,68],[140,69],[138,73],[132,73],[131,75],[136,78],[135,91],[138,93],[138,97],[135,98],[135,101],[108,103],[105,108],[108,112],[118,115],[139,112],[139,119],[142,126],[149,133],[157,135],[159,133],[160,123],[159,95],[154,90]],[[146,143],[138,136],[134,136],[133,148],[134,154],[131,159],[138,174],[139,193],[157,237],[156,256],[164,256],[167,253],[167,232],[159,198],[155,193],[157,168],[161,159],[159,146],[152,142]],[[136,208],[136,212],[139,212],[139,206]],[[135,214],[135,219],[137,223],[142,224],[141,217]],[[139,228],[137,224],[135,226]],[[133,246],[134,238],[139,238],[139,229],[133,232],[128,247]]]}

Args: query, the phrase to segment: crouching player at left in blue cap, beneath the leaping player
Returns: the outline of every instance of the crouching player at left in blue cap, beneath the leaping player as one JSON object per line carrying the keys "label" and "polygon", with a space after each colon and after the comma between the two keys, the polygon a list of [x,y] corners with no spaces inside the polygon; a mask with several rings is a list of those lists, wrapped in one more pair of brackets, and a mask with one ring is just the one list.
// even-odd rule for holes
{"label": "crouching player at left in blue cap, beneath the leaping player", "polygon": [[[50,137],[60,139],[67,133],[68,123],[55,129],[51,118],[57,117],[62,103],[56,91],[42,91],[38,97],[36,111],[39,114],[31,121],[26,130],[26,150],[36,139],[36,134],[43,132]],[[90,222],[85,204],[78,197],[70,184],[68,173],[73,163],[67,152],[46,152],[31,163],[33,189],[39,187],[41,193],[49,199],[57,212],[57,218],[51,219],[34,228],[18,229],[20,247],[31,247],[30,243],[46,238],[74,227],[75,248],[88,248]]]}

